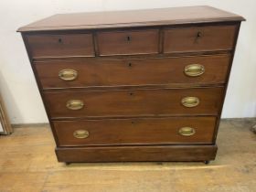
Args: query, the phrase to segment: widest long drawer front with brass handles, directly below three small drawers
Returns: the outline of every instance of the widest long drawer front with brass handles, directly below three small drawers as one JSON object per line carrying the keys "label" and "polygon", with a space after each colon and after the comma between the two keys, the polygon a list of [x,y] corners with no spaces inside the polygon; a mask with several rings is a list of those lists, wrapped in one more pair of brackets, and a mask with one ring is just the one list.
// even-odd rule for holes
{"label": "widest long drawer front with brass handles, directly below three small drawers", "polygon": [[219,55],[165,59],[60,60],[34,64],[42,87],[48,89],[224,83],[229,59],[229,55]]}

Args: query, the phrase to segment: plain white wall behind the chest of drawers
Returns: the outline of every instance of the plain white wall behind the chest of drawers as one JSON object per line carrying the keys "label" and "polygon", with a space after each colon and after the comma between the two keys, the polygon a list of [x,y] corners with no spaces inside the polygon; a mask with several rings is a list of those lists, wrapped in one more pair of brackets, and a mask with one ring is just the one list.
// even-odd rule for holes
{"label": "plain white wall behind the chest of drawers", "polygon": [[212,5],[246,17],[222,117],[256,116],[255,0],[0,0],[0,91],[11,123],[46,123],[47,116],[17,27],[57,13]]}

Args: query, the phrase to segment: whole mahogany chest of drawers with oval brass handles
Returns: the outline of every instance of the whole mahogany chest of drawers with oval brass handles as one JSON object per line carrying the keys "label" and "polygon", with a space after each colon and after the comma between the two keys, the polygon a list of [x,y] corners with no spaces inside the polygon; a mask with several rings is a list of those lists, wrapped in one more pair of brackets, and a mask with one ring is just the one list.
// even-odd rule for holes
{"label": "whole mahogany chest of drawers with oval brass handles", "polygon": [[242,20],[191,6],[19,28],[59,162],[213,160]]}

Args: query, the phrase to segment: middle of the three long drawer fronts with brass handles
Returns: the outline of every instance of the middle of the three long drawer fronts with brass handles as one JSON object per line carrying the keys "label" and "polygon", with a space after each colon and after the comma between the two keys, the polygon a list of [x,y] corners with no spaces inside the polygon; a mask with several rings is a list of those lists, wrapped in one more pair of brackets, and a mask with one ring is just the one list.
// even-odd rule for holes
{"label": "middle of the three long drawer fronts with brass handles", "polygon": [[45,92],[52,118],[217,115],[223,88]]}

